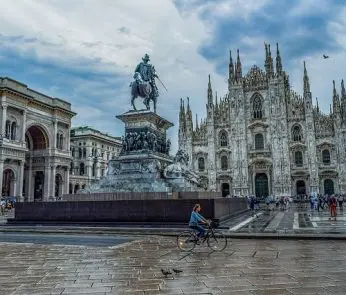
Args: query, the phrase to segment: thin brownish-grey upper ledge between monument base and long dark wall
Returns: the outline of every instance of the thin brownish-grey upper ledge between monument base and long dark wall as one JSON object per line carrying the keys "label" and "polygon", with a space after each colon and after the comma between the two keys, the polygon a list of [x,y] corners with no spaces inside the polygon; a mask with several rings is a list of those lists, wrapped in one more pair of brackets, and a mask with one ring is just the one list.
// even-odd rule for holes
{"label": "thin brownish-grey upper ledge between monument base and long dark wall", "polygon": [[161,200],[161,199],[210,199],[221,198],[220,192],[118,192],[67,194],[62,201],[115,201],[115,200]]}

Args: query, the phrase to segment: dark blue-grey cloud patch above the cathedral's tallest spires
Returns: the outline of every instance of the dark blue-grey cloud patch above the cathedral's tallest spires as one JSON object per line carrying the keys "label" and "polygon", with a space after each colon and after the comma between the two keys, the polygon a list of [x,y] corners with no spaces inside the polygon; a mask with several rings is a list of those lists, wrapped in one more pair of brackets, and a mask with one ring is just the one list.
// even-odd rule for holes
{"label": "dark blue-grey cloud patch above the cathedral's tallest spires", "polygon": [[[179,11],[197,9],[203,4],[215,3],[208,0],[186,2],[176,0]],[[221,2],[221,0],[219,1]],[[271,42],[272,48],[279,42],[282,56],[286,65],[294,63],[302,57],[315,53],[328,52],[332,54],[341,50],[328,31],[328,22],[337,15],[345,1],[329,1],[327,9],[311,9],[310,11],[294,14],[294,9],[301,3],[299,0],[272,1],[261,9],[253,11],[246,17],[235,14],[230,17],[215,19],[210,6],[203,6],[200,17],[203,21],[212,23],[214,29],[211,39],[199,47],[199,53],[215,64],[216,71],[225,75],[228,67],[229,49],[240,49],[243,58],[259,60],[260,66],[264,62],[263,42]],[[216,4],[217,5],[217,4]],[[209,7],[209,8],[208,8]],[[259,40],[253,44],[246,40]],[[272,52],[275,50],[272,50]],[[242,60],[245,68],[250,67],[246,60]]]}

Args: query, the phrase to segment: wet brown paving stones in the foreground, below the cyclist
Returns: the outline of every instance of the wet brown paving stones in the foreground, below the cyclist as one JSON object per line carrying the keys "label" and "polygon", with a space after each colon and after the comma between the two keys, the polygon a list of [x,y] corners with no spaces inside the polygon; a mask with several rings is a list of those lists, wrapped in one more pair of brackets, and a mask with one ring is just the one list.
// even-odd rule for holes
{"label": "wet brown paving stones in the foreground, below the cyclist", "polygon": [[[0,294],[345,294],[342,241],[234,240],[178,251],[174,238],[115,247],[0,244]],[[181,274],[164,277],[161,268]]]}

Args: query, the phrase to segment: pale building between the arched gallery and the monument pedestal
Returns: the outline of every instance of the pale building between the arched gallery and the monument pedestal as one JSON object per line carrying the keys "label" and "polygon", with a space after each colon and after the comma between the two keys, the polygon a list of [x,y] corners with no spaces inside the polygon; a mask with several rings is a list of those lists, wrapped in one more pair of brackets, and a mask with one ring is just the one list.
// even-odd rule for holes
{"label": "pale building between the arched gallery and the monument pedestal", "polygon": [[99,180],[107,173],[108,161],[122,148],[121,138],[90,127],[71,129],[71,155],[69,193]]}

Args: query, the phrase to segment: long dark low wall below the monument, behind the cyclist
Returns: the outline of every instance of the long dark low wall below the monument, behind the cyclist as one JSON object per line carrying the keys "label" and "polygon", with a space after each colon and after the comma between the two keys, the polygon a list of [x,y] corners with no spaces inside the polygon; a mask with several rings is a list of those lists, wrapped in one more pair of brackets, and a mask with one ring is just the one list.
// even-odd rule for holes
{"label": "long dark low wall below the monument, behind the cyclist", "polygon": [[15,221],[187,223],[194,204],[206,218],[224,219],[246,209],[245,199],[65,201],[16,204]]}

